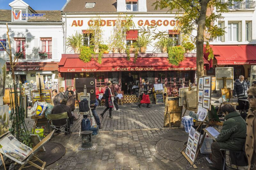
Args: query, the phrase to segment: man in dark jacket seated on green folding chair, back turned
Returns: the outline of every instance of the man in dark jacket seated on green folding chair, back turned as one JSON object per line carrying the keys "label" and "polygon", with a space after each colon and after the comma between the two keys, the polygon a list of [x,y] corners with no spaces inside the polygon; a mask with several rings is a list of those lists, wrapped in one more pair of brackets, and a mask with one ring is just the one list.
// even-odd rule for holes
{"label": "man in dark jacket seated on green folding chair, back turned", "polygon": [[[54,106],[52,108],[51,114],[60,114],[60,113],[64,113],[67,112],[68,113],[68,118],[69,120],[72,119],[72,113],[71,113],[71,109],[70,107],[68,107],[67,105],[67,99],[62,99],[60,104],[57,104],[56,106]],[[61,126],[66,124],[66,119],[60,119],[60,120],[52,120],[52,124],[56,125],[56,126]],[[69,127],[69,125],[68,125]],[[65,131],[67,131],[67,129],[65,129]],[[57,133],[60,133],[60,130],[56,131]],[[67,135],[68,133],[65,132],[65,135]]]}

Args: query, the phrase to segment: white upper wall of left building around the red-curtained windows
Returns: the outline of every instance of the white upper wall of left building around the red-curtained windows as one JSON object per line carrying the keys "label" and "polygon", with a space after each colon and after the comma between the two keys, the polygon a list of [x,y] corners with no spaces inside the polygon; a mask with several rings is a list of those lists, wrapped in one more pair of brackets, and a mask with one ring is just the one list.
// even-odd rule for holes
{"label": "white upper wall of left building around the red-curtained windows", "polygon": [[[15,53],[14,38],[26,38],[26,58],[31,54],[31,59],[22,60],[19,62],[51,62],[60,61],[61,54],[63,53],[63,29],[62,24],[56,23],[55,25],[44,24],[17,24],[9,23],[9,36],[11,38],[12,53]],[[0,22],[0,39],[6,39],[6,25]],[[40,59],[38,52],[42,49],[40,37],[52,37],[52,59]],[[27,40],[31,39],[31,45]],[[5,51],[0,51],[0,57],[9,60]]]}

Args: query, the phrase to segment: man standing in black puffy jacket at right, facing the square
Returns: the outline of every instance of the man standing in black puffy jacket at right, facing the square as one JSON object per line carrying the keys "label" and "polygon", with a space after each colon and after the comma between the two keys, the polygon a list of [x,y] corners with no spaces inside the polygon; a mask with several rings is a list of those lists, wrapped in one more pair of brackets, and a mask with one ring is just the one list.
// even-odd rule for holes
{"label": "man standing in black puffy jacket at right, facing the square", "polygon": [[233,90],[233,95],[237,97],[238,99],[238,106],[236,106],[236,110],[245,110],[249,109],[249,103],[245,102],[244,100],[241,99],[247,99],[247,89],[248,89],[248,84],[244,80],[244,76],[240,75],[239,79],[236,79],[234,82],[234,90]]}

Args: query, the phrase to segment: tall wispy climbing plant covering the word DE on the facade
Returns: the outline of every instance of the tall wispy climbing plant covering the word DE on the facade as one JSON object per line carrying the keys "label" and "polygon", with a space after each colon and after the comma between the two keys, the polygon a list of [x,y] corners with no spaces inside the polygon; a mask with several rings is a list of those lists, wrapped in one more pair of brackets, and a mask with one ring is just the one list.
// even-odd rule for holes
{"label": "tall wispy climbing plant covering the word DE on the facade", "polygon": [[122,13],[118,15],[109,39],[111,49],[118,48],[120,50],[125,48],[126,32],[130,31],[130,29],[134,27],[132,18],[133,15],[129,17]]}

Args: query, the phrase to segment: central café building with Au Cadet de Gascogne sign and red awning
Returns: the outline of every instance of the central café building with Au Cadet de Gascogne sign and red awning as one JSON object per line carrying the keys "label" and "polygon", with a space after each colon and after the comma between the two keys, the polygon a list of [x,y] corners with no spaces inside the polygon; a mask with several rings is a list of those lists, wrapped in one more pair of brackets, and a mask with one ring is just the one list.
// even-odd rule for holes
{"label": "central caf\u00e9 building with Au Cadet de Gascogne sign and red awning", "polygon": [[[166,32],[175,45],[181,42],[181,34],[175,28],[177,21],[174,14],[167,10],[154,10],[152,4],[155,0],[94,0],[76,1],[69,0],[62,8],[62,19],[65,21],[65,38],[80,32],[84,37],[84,45],[90,45],[91,36],[87,30],[93,24],[92,18],[100,17],[104,34],[104,41],[108,43],[116,18],[120,13],[128,16],[133,15],[132,21],[135,27],[126,34],[126,44],[136,42],[140,35],[141,27],[155,26],[158,31]],[[146,53],[139,53],[134,63],[134,53],[128,61],[126,53],[103,54],[102,63],[92,59],[84,63],[79,59],[79,54],[68,46],[65,46],[65,54],[62,54],[58,65],[59,77],[63,78],[65,87],[74,86],[75,78],[95,77],[96,89],[100,86],[105,88],[108,81],[116,81],[118,90],[126,93],[126,77],[130,72],[136,85],[141,80],[148,80],[151,87],[155,83],[163,83],[167,87],[180,87],[182,82],[188,86],[188,82],[195,82],[196,77],[196,53],[185,54],[185,60],[178,66],[174,66],[167,60],[168,54],[155,49],[152,39],[151,46],[147,46]],[[194,52],[194,53],[193,53]],[[205,69],[209,63],[204,59]],[[117,90],[116,89],[116,90]]]}

